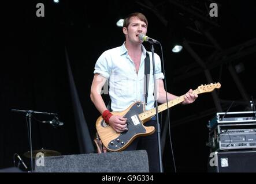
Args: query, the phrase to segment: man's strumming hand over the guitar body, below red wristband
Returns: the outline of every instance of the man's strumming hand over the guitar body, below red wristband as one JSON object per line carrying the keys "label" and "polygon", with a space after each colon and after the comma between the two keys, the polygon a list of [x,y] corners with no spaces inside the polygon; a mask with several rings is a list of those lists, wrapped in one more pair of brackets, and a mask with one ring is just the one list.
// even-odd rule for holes
{"label": "man's strumming hand over the guitar body, below red wristband", "polygon": [[127,118],[124,118],[118,115],[113,115],[112,117],[109,118],[109,125],[117,133],[121,133],[128,130],[126,121],[127,121]]}

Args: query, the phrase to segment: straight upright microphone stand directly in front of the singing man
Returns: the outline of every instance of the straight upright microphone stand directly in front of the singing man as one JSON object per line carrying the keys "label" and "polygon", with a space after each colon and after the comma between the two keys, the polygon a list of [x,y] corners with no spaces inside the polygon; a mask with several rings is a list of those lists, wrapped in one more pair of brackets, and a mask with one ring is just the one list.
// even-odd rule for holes
{"label": "straight upright microphone stand directly in front of the singing man", "polygon": [[158,118],[158,104],[157,104],[157,81],[155,79],[155,57],[154,57],[154,43],[150,41],[151,53],[152,53],[152,62],[153,62],[153,78],[154,78],[154,98],[155,98],[155,113],[157,114],[157,140],[158,140],[158,155],[159,155],[159,167],[160,173],[163,173],[162,168],[162,151],[161,151],[161,128]]}

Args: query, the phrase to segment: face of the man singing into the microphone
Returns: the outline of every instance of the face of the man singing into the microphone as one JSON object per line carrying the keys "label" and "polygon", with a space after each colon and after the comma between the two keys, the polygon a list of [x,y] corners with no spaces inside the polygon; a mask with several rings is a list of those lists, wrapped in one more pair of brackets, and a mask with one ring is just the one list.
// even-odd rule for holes
{"label": "face of the man singing into the microphone", "polygon": [[147,25],[145,22],[139,20],[138,17],[131,17],[128,28],[123,28],[123,32],[131,43],[142,43],[143,41],[139,39],[139,34],[146,35]]}

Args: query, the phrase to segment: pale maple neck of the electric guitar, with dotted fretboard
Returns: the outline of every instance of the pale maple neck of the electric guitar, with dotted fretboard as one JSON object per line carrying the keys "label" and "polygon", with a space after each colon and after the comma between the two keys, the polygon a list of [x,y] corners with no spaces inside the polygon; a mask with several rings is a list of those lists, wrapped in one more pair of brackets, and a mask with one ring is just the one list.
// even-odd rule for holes
{"label": "pale maple neck of the electric guitar, with dotted fretboard", "polygon": [[[192,93],[199,94],[200,91],[198,89],[196,89]],[[158,113],[160,113],[168,108],[171,108],[172,106],[180,104],[183,101],[185,101],[184,95],[177,97],[175,99],[172,99],[171,101],[168,102],[168,105],[167,105],[167,102],[165,104],[161,104],[158,106]],[[150,117],[154,116],[155,114],[156,114],[155,108],[146,110],[145,112],[139,114],[140,121],[150,118]]]}

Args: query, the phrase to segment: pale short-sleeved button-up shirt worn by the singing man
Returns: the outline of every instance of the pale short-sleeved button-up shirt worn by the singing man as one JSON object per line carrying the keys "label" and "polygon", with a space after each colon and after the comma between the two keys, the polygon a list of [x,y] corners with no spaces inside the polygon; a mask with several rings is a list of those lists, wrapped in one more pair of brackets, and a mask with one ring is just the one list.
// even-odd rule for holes
{"label": "pale short-sleeved button-up shirt worn by the singing man", "polygon": [[[94,74],[99,74],[109,80],[109,95],[111,98],[111,108],[113,111],[123,111],[133,102],[145,101],[144,87],[144,59],[146,58],[146,49],[142,45],[142,57],[138,74],[136,73],[135,64],[128,55],[125,43],[121,47],[109,49],[99,56]],[[152,53],[150,56],[150,79],[149,79],[149,96],[147,98],[146,110],[154,108],[154,79]],[[161,72],[161,60],[157,53],[155,57],[155,79],[164,79]]]}

